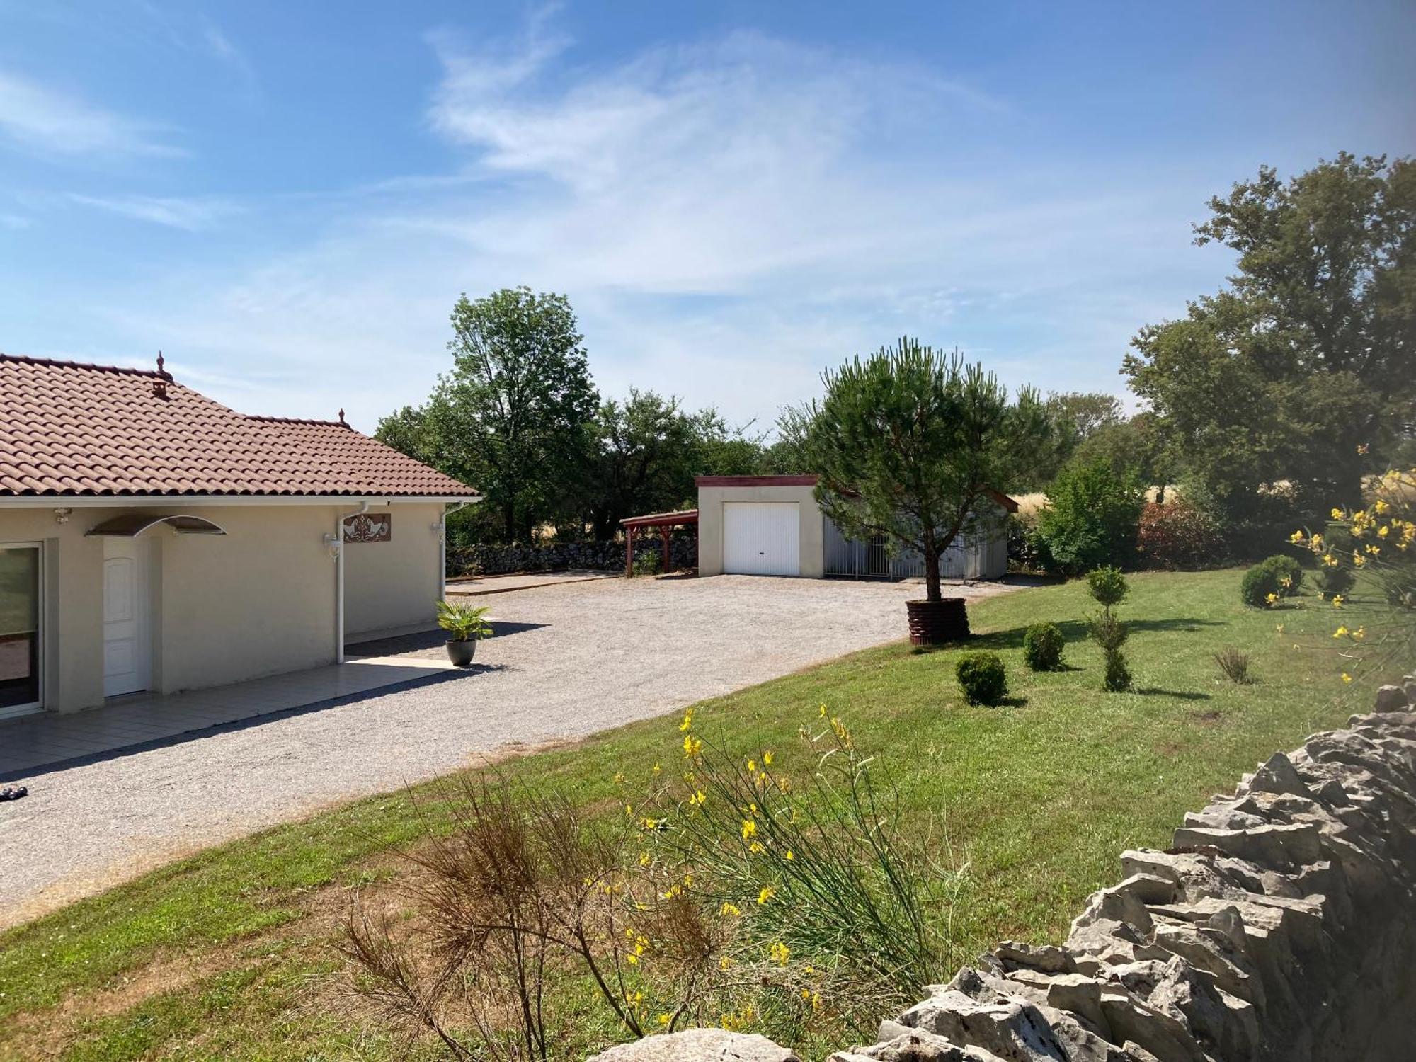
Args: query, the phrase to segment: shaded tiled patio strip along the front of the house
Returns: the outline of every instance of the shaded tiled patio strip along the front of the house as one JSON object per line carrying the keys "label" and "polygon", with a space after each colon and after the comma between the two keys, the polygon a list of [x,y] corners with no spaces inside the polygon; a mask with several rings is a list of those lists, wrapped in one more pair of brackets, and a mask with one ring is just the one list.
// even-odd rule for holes
{"label": "shaded tiled patio strip along the front of the house", "polygon": [[419,680],[455,678],[447,660],[408,656],[350,657],[343,664],[255,678],[181,694],[133,694],[102,708],[40,712],[0,721],[0,782],[14,782],[69,760],[91,762],[133,746],[169,742],[210,726],[276,712],[344,702]]}

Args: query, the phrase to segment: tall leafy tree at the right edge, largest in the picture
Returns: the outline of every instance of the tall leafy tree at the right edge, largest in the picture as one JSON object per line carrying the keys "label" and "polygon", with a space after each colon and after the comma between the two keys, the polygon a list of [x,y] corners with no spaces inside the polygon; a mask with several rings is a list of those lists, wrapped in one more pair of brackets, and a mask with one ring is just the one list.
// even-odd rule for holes
{"label": "tall leafy tree at the right edge, largest in the picture", "polygon": [[1341,153],[1263,167],[1209,201],[1195,242],[1236,252],[1229,286],[1141,329],[1123,371],[1167,445],[1231,518],[1284,480],[1357,501],[1359,455],[1416,428],[1416,163]]}

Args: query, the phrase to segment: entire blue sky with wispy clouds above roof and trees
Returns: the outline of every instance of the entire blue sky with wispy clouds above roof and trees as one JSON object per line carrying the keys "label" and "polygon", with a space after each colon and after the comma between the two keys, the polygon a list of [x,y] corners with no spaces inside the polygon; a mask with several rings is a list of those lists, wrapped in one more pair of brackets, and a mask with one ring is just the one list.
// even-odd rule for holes
{"label": "entire blue sky with wispy clouds above roof and trees", "polygon": [[1416,6],[0,0],[0,350],[371,430],[447,312],[769,425],[899,334],[1123,392],[1263,163],[1416,150]]}

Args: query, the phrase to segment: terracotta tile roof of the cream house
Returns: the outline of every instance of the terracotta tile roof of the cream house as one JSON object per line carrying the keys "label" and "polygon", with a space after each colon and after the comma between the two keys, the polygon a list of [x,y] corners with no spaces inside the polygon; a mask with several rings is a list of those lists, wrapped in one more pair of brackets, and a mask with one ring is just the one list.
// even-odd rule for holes
{"label": "terracotta tile roof of the cream house", "polygon": [[245,416],[166,372],[0,354],[0,497],[16,494],[477,491],[341,421]]}

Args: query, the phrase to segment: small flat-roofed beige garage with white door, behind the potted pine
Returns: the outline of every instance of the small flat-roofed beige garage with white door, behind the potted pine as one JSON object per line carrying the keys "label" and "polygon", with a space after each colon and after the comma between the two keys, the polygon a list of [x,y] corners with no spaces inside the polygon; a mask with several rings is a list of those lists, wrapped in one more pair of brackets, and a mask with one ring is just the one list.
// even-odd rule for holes
{"label": "small flat-roofed beige garage with white door, behind the potted pine", "polygon": [[[700,575],[797,575],[809,579],[923,576],[923,558],[891,556],[884,537],[852,541],[816,503],[816,476],[698,476]],[[1018,503],[991,493],[991,504],[1015,513]],[[1008,572],[1003,521],[961,535],[939,558],[946,579],[1001,579]]]}

